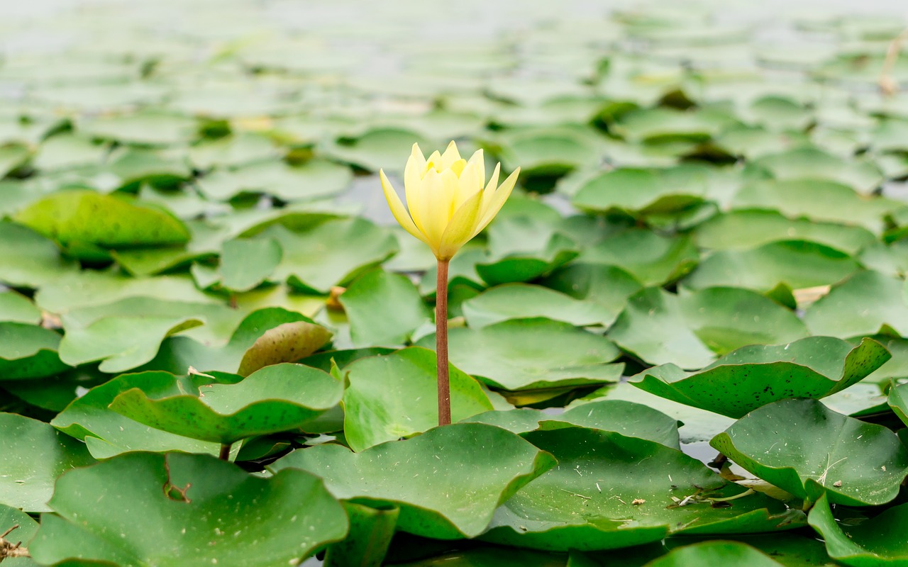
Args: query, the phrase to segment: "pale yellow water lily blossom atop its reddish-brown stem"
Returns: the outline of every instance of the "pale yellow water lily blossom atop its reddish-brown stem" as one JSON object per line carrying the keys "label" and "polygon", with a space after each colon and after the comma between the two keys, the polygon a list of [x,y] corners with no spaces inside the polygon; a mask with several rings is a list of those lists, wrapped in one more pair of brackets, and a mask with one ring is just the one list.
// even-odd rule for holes
{"label": "pale yellow water lily blossom atop its reddish-brown stem", "polygon": [[384,171],[380,171],[381,189],[400,226],[428,244],[437,259],[447,261],[485,229],[508,200],[520,168],[499,186],[500,169],[498,163],[486,183],[482,150],[467,161],[460,157],[457,144],[450,142],[444,153],[433,152],[427,160],[414,143],[403,173],[407,209]]}

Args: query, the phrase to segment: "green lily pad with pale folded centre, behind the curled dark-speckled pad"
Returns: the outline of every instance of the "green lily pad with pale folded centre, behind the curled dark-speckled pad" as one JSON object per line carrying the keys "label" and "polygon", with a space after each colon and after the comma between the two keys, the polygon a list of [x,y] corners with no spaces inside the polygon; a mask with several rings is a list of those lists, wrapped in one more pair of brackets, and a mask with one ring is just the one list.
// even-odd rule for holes
{"label": "green lily pad with pale folded centre, behind the curled dark-speckled pad", "polygon": [[646,288],[631,296],[608,337],[650,364],[701,368],[716,355],[807,336],[788,309],[755,291],[706,288],[679,295]]}

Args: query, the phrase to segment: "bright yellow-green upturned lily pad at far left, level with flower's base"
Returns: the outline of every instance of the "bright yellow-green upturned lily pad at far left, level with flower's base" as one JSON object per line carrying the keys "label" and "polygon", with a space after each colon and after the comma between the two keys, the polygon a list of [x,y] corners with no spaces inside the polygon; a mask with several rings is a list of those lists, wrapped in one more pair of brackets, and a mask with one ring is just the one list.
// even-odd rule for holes
{"label": "bright yellow-green upturned lily pad at far left, level with flower's base", "polygon": [[63,245],[104,248],[183,244],[189,231],[170,213],[94,191],[62,191],[20,210],[15,220]]}

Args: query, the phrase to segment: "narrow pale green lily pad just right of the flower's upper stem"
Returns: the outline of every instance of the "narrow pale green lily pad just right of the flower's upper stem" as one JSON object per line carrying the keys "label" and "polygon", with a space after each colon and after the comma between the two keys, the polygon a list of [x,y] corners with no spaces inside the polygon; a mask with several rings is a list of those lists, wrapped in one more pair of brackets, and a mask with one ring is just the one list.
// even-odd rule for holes
{"label": "narrow pale green lily pad just right of the flower's upper stem", "polygon": [[575,327],[607,326],[615,320],[615,314],[592,300],[522,283],[490,288],[467,299],[460,308],[473,328],[517,318],[549,318]]}

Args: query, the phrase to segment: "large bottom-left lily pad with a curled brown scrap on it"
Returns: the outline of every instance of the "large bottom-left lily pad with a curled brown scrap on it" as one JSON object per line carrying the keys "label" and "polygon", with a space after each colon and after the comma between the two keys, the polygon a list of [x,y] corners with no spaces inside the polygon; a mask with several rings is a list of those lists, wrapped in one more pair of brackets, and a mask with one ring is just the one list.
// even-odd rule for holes
{"label": "large bottom-left lily pad with a curled brown scrap on it", "polygon": [[[98,506],[85,491],[103,499]],[[35,561],[286,567],[349,528],[311,474],[246,474],[209,455],[131,453],[65,474],[29,545]],[[250,510],[261,513],[250,522]],[[155,518],[169,518],[167,522]]]}

